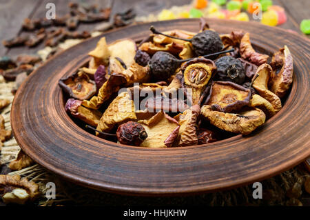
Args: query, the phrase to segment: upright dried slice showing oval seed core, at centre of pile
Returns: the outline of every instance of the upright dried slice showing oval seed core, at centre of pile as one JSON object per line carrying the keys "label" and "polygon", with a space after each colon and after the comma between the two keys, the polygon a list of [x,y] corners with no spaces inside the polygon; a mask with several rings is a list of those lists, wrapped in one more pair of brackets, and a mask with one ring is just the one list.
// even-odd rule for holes
{"label": "upright dried slice showing oval seed core, at centre of pile", "polygon": [[215,63],[209,59],[198,57],[187,61],[182,66],[182,70],[184,71],[185,88],[190,89],[188,93],[192,93],[192,105],[196,105],[211,75],[216,70]]}

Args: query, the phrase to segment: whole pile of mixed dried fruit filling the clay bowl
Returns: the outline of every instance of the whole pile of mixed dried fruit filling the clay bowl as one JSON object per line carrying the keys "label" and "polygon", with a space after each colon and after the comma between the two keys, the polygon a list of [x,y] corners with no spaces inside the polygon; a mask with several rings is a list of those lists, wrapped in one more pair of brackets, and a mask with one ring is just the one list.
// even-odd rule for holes
{"label": "whole pile of mixed dried fruit filling the clay bowl", "polygon": [[65,110],[99,137],[147,148],[253,132],[282,108],[293,79],[289,48],[268,63],[249,33],[220,35],[204,21],[200,27],[198,33],[151,27],[138,44],[101,38],[88,66],[59,81]]}

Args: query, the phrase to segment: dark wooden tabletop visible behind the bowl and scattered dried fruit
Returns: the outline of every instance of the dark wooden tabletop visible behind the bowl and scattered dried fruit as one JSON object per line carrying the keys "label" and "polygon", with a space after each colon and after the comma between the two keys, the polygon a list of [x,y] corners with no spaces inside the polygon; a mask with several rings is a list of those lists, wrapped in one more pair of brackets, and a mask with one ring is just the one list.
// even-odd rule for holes
{"label": "dark wooden tabletop visible behind the bowl and scattered dried fruit", "polygon": [[[0,0],[0,40],[9,39],[17,34],[25,34],[21,31],[21,23],[23,22],[23,19],[25,17],[30,19],[45,17],[45,5],[48,2],[55,3],[57,15],[61,16],[68,13],[68,3],[70,0],[23,0],[22,3],[20,0]],[[151,13],[160,12],[163,8],[188,4],[191,0],[92,0],[89,2],[97,3],[100,6],[111,6],[112,13],[122,12],[128,8],[134,8],[137,16],[146,16]],[[310,1],[273,0],[273,4],[282,6],[287,12],[287,23],[284,23],[279,27],[302,34],[299,25],[302,19],[309,19],[310,17]],[[81,25],[79,26],[79,30],[92,30],[96,25],[97,24]],[[303,36],[306,37],[306,35]],[[9,50],[4,48],[1,44],[0,56],[3,56],[4,54],[14,56],[25,52],[32,53],[40,48],[43,48],[43,43],[37,48],[29,49],[27,47],[19,47]]]}

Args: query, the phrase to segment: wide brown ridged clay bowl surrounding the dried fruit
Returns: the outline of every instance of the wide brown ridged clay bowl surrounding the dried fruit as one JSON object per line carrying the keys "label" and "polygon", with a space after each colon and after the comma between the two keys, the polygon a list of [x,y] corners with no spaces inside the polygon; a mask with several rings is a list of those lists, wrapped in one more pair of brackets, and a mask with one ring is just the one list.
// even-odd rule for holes
{"label": "wide brown ridged clay bowl surrounding the dried fruit", "polygon": [[[158,30],[198,31],[198,19],[152,23]],[[90,58],[102,36],[80,43],[54,57],[18,90],[11,113],[17,143],[34,161],[61,177],[97,190],[139,195],[210,192],[266,179],[310,156],[310,41],[259,23],[209,20],[220,33],[243,29],[256,50],[272,54],[285,44],[294,59],[291,92],[285,106],[253,134],[200,146],[149,149],[124,146],[95,137],[65,112],[61,77]],[[149,34],[149,24],[103,34],[108,43],[136,41]]]}

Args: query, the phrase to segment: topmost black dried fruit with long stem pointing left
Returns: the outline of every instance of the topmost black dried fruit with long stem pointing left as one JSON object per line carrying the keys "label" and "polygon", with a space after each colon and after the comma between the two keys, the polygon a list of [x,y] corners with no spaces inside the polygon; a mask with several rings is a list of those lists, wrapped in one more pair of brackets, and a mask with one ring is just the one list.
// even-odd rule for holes
{"label": "topmost black dried fruit with long stem pointing left", "polygon": [[[158,32],[157,30],[155,30],[154,26],[151,26],[149,30],[151,30],[154,34],[161,34],[166,37],[180,39],[178,37],[173,37],[173,36],[169,36],[167,34]],[[214,32],[213,30],[204,30],[203,32],[196,34],[192,39],[180,39],[180,40],[191,42],[194,48],[194,52],[198,56],[220,52],[220,50],[223,49],[223,43],[220,39],[220,35],[217,32]],[[215,58],[216,58],[216,55],[212,57],[212,59],[215,59]]]}

